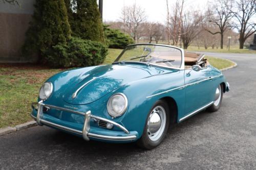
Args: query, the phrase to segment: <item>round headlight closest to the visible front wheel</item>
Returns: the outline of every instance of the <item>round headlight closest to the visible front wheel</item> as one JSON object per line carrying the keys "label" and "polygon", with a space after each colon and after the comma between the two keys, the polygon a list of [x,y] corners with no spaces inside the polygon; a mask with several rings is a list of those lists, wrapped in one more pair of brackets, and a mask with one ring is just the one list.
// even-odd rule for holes
{"label": "round headlight closest to the visible front wheel", "polygon": [[128,101],[123,93],[112,95],[108,102],[108,112],[112,117],[121,116],[127,109]]}

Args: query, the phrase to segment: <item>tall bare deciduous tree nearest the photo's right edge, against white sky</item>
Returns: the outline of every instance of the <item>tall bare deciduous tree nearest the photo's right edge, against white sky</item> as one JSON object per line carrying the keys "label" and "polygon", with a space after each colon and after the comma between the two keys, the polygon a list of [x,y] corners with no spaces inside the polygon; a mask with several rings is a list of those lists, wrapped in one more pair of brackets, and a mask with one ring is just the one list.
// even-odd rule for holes
{"label": "tall bare deciduous tree nearest the photo's right edge, against white sky", "polygon": [[236,22],[234,28],[239,32],[239,48],[244,48],[244,42],[248,37],[256,32],[256,23],[252,17],[256,15],[256,0],[236,0],[232,13]]}

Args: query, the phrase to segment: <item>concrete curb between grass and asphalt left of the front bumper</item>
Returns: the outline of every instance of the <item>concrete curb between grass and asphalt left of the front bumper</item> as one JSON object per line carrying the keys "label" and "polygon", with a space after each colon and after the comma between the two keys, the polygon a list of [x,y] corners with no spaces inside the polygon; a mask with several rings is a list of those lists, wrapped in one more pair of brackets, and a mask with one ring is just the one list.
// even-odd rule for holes
{"label": "concrete curb between grass and asphalt left of the front bumper", "polygon": [[3,136],[3,135],[7,135],[9,133],[13,133],[13,132],[16,132],[16,131],[20,131],[20,130],[23,130],[23,129],[28,129],[28,128],[31,128],[31,127],[34,127],[34,126],[37,126],[37,123],[32,120],[30,122],[27,122],[25,124],[20,124],[20,125],[16,125],[15,127],[6,127],[6,128],[0,128],[0,136]]}

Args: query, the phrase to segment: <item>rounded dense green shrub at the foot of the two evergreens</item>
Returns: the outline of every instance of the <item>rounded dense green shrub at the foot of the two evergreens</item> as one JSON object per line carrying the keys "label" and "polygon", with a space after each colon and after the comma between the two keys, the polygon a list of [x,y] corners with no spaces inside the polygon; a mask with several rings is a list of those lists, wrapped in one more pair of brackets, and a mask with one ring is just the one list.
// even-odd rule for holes
{"label": "rounded dense green shrub at the foot of the two evergreens", "polygon": [[107,54],[102,43],[73,37],[67,44],[53,46],[45,56],[53,67],[85,67],[103,63]]}

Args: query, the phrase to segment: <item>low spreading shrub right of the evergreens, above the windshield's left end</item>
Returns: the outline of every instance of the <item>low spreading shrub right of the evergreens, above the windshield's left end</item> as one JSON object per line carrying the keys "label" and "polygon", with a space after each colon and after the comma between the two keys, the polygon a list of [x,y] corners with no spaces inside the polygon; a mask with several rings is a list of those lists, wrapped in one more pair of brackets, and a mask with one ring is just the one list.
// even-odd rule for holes
{"label": "low spreading shrub right of the evergreens, above the windshield's left end", "polygon": [[110,48],[123,49],[126,45],[133,44],[134,40],[127,34],[122,33],[119,30],[114,30],[104,26],[104,35],[106,43]]}

